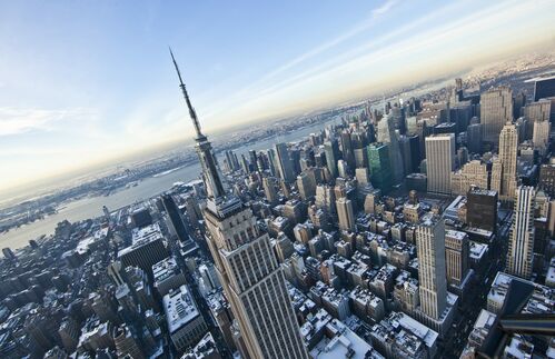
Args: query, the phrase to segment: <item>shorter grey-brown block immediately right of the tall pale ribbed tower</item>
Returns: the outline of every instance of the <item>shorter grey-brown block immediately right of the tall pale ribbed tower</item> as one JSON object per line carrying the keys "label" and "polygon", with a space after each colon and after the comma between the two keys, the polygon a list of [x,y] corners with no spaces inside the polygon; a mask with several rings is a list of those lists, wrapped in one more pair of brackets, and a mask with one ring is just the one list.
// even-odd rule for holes
{"label": "shorter grey-brown block immediately right of the tall pale ribbed tower", "polygon": [[468,235],[465,232],[445,231],[445,267],[447,282],[460,286],[468,270]]}

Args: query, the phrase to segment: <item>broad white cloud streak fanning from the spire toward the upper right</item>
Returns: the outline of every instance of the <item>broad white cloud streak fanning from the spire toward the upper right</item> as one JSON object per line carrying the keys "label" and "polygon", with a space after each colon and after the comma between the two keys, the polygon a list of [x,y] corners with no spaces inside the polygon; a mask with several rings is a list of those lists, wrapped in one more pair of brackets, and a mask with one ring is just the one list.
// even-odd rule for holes
{"label": "broad white cloud streak fanning from the spire toward the upper right", "polygon": [[[287,114],[286,111],[291,113],[295,107],[299,111],[323,103],[329,106],[331,102],[327,101],[353,98],[361,91],[380,91],[383,89],[379,86],[384,87],[387,79],[389,86],[397,86],[399,83],[394,81],[403,80],[407,83],[418,77],[433,76],[433,72],[438,76],[442,74],[440,71],[452,71],[463,63],[474,64],[485,56],[506,50],[506,39],[514,37],[519,28],[514,27],[507,31],[507,26],[521,23],[521,19],[537,13],[539,9],[545,10],[553,2],[549,1],[531,4],[509,0],[493,3],[473,13],[460,11],[462,7],[469,6],[468,2],[438,8],[314,68],[300,70],[281,78],[281,81],[244,93],[242,100],[232,101],[235,104],[240,103],[238,107],[224,106],[225,110],[221,111],[218,103],[212,107],[209,116],[215,118],[225,113],[229,119],[248,119],[254,113],[259,113],[258,118],[262,119]],[[375,11],[384,13],[393,6],[384,6]],[[453,18],[455,13],[458,16]],[[449,21],[436,21],[449,18]],[[545,24],[545,19],[543,22]],[[504,28],[504,31],[499,28]],[[506,39],[499,39],[499,36]],[[422,66],[426,63],[434,63],[435,67],[422,71]],[[419,71],[413,72],[412,69]]]}

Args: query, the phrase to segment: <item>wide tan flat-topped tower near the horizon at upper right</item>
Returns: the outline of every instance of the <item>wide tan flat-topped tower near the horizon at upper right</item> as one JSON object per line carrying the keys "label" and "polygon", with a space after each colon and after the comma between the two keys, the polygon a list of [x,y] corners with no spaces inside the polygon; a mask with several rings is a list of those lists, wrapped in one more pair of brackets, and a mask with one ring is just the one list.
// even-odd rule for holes
{"label": "wide tan flat-topped tower near the horizon at upper right", "polygon": [[513,91],[507,86],[492,88],[482,93],[479,118],[484,126],[484,140],[497,143],[499,132],[513,120]]}

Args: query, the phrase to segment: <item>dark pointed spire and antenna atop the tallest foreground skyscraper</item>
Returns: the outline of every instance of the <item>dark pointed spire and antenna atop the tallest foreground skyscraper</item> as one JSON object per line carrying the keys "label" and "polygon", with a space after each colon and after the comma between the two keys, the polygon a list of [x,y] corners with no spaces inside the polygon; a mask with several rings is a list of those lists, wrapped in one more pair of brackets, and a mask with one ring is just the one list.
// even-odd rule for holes
{"label": "dark pointed spire and antenna atop the tallest foreground skyscraper", "polygon": [[197,137],[195,138],[197,144],[195,146],[195,148],[197,149],[197,154],[202,167],[202,178],[205,180],[206,192],[208,195],[208,199],[210,200],[209,202],[216,203],[226,197],[226,188],[221,180],[221,173],[218,167],[218,162],[216,161],[216,156],[214,156],[212,146],[208,141],[208,138],[200,131],[197,112],[195,112],[195,109],[192,108],[189,100],[189,94],[187,93],[187,89],[185,88],[184,80],[181,79],[181,72],[179,72],[179,67],[177,66],[174,52],[171,52],[171,48],[169,49],[169,53],[171,54],[171,60],[174,61],[177,76],[179,77],[179,87],[184,92],[185,101],[187,102],[187,107],[189,108],[189,114],[191,117],[192,124],[195,124],[195,130],[197,131]]}

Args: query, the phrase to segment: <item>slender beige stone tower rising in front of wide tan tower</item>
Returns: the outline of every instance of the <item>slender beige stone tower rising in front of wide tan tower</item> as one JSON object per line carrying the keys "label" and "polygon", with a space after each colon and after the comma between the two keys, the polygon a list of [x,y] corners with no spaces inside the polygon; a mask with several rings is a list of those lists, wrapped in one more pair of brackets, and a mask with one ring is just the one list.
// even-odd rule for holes
{"label": "slender beige stone tower rising in front of wide tan tower", "polygon": [[516,152],[518,133],[513,123],[503,127],[499,134],[499,160],[503,167],[499,199],[513,201],[517,186]]}

